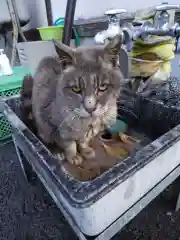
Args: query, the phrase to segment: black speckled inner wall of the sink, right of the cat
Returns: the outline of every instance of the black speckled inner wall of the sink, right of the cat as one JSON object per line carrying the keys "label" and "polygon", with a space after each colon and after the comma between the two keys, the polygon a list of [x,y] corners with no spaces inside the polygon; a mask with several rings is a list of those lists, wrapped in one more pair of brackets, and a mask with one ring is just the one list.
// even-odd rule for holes
{"label": "black speckled inner wall of the sink, right of the cat", "polygon": [[122,116],[128,115],[149,134],[154,134],[156,129],[155,135],[161,135],[180,124],[180,79],[169,78],[142,93],[132,93],[125,88],[119,108]]}

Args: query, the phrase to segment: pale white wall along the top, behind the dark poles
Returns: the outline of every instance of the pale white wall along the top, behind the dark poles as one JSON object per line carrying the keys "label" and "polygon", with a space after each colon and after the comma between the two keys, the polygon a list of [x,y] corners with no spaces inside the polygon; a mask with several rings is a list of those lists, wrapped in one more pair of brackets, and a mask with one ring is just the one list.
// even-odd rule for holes
{"label": "pale white wall along the top, behind the dark poles", "polygon": [[[75,19],[88,18],[103,15],[109,8],[125,8],[127,11],[135,11],[139,8],[145,8],[160,4],[163,0],[151,0],[149,3],[145,0],[77,0]],[[32,20],[31,26],[47,26],[44,0],[28,0]],[[64,17],[67,0],[51,0],[53,19]],[[179,0],[169,0],[168,3],[179,4]]]}

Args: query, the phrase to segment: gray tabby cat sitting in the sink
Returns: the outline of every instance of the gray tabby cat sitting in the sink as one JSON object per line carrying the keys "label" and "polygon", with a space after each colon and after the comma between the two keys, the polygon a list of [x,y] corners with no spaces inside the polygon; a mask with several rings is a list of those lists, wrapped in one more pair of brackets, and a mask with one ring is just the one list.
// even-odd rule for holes
{"label": "gray tabby cat sitting in the sink", "polygon": [[38,135],[55,142],[72,164],[93,158],[90,140],[116,121],[122,79],[119,38],[72,49],[54,42],[60,59],[44,59],[34,76],[32,112]]}

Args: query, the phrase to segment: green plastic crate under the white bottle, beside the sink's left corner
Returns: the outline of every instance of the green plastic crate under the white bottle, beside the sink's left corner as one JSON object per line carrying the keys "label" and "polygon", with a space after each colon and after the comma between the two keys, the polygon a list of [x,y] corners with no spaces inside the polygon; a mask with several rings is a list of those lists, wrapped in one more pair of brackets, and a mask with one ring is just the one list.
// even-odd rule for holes
{"label": "green plastic crate under the white bottle, beside the sink's left corner", "polygon": [[[0,76],[0,97],[10,98],[20,93],[22,81],[25,75],[31,74],[30,69],[23,66],[13,68],[13,75]],[[7,119],[0,115],[0,142],[11,137],[12,130]],[[1,144],[0,144],[1,145]]]}

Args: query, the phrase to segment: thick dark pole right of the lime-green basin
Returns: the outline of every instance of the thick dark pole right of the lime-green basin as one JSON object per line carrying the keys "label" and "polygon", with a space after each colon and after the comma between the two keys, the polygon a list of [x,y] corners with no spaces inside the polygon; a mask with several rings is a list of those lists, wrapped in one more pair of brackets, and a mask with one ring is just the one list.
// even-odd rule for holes
{"label": "thick dark pole right of the lime-green basin", "polygon": [[64,19],[64,32],[62,42],[70,45],[72,37],[72,27],[74,22],[74,13],[76,8],[76,0],[67,0],[66,14]]}

